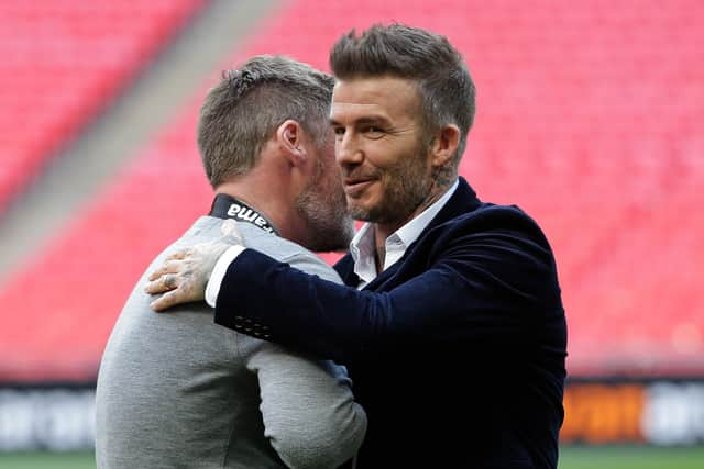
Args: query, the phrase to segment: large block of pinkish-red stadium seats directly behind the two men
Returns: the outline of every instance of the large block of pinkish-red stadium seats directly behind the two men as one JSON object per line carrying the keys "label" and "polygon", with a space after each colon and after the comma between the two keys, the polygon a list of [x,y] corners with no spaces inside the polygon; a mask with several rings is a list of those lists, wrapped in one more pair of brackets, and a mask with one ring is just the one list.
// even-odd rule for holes
{"label": "large block of pinkish-red stadium seats directly behind the two men", "polygon": [[[391,20],[441,32],[465,54],[479,104],[461,174],[544,227],[570,372],[704,372],[704,5],[290,1],[232,63],[285,53],[327,68],[341,32]],[[198,102],[0,286],[0,378],[95,377],[136,277],[209,208]]]}

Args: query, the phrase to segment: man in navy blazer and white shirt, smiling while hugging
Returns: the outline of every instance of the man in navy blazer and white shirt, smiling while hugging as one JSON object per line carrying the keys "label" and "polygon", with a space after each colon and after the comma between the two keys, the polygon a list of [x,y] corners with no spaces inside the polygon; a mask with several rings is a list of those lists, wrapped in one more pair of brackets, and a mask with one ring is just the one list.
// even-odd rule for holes
{"label": "man in navy blazer and white shirt, smiling while hugging", "polygon": [[153,308],[206,297],[223,326],[346,364],[369,416],[359,468],[556,468],[556,261],[534,220],[458,177],[474,118],[460,54],[392,24],[342,36],[330,64],[348,209],[367,222],[336,265],[346,287],[204,246],[153,273]]}

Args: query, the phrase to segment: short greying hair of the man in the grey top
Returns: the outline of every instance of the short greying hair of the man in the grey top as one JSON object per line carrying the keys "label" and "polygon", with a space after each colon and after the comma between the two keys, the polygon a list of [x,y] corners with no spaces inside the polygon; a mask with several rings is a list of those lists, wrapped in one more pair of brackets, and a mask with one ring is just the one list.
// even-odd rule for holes
{"label": "short greying hair of the man in the grey top", "polygon": [[226,70],[198,120],[198,149],[216,188],[252,169],[262,146],[292,119],[322,143],[334,79],[285,56],[261,55]]}

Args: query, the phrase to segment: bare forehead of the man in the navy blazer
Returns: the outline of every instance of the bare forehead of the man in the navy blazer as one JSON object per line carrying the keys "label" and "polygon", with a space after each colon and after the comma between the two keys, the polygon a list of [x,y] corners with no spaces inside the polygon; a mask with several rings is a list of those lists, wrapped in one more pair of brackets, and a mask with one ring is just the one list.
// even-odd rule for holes
{"label": "bare forehead of the man in the navy blazer", "polygon": [[331,118],[362,119],[378,116],[414,119],[419,112],[420,96],[415,82],[397,77],[364,77],[339,80],[332,91]]}

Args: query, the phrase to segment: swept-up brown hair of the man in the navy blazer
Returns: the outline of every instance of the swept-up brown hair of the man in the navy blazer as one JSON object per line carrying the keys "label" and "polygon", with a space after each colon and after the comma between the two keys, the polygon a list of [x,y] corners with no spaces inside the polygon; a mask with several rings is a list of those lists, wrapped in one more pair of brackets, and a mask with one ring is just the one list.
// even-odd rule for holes
{"label": "swept-up brown hair of the man in the navy blazer", "polygon": [[454,124],[459,163],[474,122],[475,88],[460,53],[444,36],[398,23],[376,24],[356,35],[350,31],[330,52],[337,79],[392,76],[414,80],[421,105],[421,124],[432,133]]}

